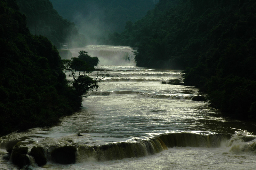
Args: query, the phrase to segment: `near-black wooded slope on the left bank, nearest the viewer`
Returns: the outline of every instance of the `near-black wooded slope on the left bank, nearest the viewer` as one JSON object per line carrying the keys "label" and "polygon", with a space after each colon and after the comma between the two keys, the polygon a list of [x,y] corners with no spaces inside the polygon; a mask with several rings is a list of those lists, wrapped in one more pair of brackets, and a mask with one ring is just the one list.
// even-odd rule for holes
{"label": "near-black wooded slope on the left bank, nearest the viewer", "polygon": [[12,1],[0,1],[0,135],[51,126],[81,106],[55,46],[29,33]]}

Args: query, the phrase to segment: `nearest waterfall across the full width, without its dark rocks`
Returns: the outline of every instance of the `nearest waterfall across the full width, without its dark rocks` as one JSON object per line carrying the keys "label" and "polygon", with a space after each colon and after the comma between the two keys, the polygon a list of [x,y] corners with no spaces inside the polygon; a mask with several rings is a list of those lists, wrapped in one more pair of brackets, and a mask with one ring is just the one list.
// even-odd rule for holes
{"label": "nearest waterfall across the full width, without its dark rocks", "polygon": [[[81,136],[80,136],[81,137]],[[246,131],[231,134],[217,134],[211,132],[178,132],[152,135],[148,138],[133,138],[125,142],[114,142],[103,145],[88,145],[76,143],[68,138],[62,140],[46,139],[36,143],[31,139],[18,139],[14,141],[1,141],[1,148],[10,151],[10,147],[29,147],[31,150],[34,146],[44,148],[48,161],[52,160],[51,152],[63,146],[74,146],[77,148],[76,161],[86,162],[89,160],[108,161],[132,157],[144,157],[160,153],[172,147],[220,147],[226,143],[227,146],[234,150],[237,149],[237,141],[240,142],[241,151],[256,151],[256,136]],[[11,157],[12,157],[11,152]],[[68,154],[68,153],[67,153]],[[68,157],[68,155],[66,155]],[[65,157],[65,155],[64,155]]]}

